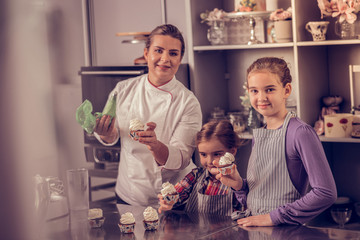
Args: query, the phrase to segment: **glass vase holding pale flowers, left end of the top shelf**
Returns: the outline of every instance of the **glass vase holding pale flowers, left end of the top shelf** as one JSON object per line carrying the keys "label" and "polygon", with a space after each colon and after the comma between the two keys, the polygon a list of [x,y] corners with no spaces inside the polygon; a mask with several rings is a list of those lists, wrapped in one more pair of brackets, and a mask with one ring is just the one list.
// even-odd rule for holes
{"label": "glass vase holding pale flowers, left end of the top shelf", "polygon": [[211,45],[227,44],[227,28],[224,20],[208,22],[210,28],[207,32],[207,39]]}

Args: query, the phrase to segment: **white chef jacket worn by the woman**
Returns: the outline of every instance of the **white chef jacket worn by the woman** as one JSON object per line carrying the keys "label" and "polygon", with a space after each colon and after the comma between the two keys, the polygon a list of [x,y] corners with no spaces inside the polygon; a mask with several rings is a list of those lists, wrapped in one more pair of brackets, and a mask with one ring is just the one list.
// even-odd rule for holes
{"label": "white chef jacket worn by the woman", "polygon": [[[117,92],[116,126],[121,141],[115,192],[131,205],[156,205],[162,183],[171,182],[190,163],[195,135],[202,125],[200,103],[175,77],[156,87],[144,74],[119,82],[110,95],[114,92]],[[156,137],[169,149],[164,166],[156,163],[146,145],[129,137],[130,120],[134,118],[144,124],[156,123]],[[105,144],[96,137],[104,145],[117,142]]]}

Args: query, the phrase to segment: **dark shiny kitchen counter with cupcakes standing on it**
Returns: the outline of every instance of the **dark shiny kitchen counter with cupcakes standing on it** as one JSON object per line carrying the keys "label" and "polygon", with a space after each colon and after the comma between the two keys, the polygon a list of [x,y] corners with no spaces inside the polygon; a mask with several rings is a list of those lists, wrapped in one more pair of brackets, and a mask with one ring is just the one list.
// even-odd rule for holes
{"label": "dark shiny kitchen counter with cupcakes standing on it", "polygon": [[[143,226],[144,207],[122,204],[94,203],[91,208],[101,208],[105,223],[101,228],[90,228],[87,211],[71,212],[66,216],[48,220],[43,226],[40,239],[360,239],[360,222],[338,229],[333,223],[314,221],[311,226],[250,227],[237,226],[230,217],[208,214],[186,214],[182,211],[168,211],[159,215],[160,226],[156,231],[145,231]],[[135,232],[120,233],[120,214],[132,212]],[[348,229],[350,228],[350,229]]]}

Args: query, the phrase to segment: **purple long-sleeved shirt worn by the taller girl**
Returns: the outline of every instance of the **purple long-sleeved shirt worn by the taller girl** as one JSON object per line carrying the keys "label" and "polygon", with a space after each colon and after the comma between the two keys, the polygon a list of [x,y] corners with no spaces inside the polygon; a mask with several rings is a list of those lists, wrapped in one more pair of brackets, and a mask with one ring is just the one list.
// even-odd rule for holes
{"label": "purple long-sleeved shirt worn by the taller girl", "polygon": [[[290,119],[285,148],[290,179],[302,197],[270,211],[270,217],[274,225],[303,224],[335,202],[336,185],[319,137],[299,118]],[[243,181],[242,189],[235,192],[240,203],[249,192]]]}

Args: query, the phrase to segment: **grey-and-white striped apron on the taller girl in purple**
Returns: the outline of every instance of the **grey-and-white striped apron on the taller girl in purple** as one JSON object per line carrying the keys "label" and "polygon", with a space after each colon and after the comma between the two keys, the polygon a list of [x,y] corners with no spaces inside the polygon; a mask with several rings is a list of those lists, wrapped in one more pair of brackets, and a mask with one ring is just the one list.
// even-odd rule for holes
{"label": "grey-and-white striped apron on the taller girl in purple", "polygon": [[291,182],[285,157],[286,130],[294,116],[289,112],[280,129],[253,131],[254,146],[247,169],[248,215],[267,214],[301,197]]}

